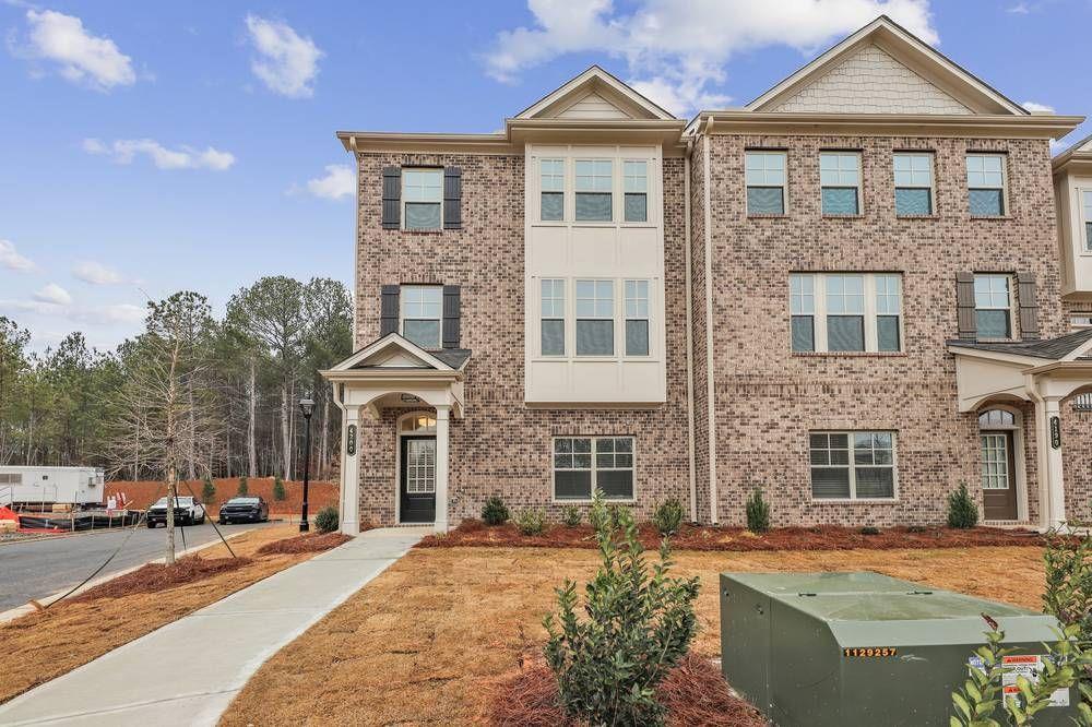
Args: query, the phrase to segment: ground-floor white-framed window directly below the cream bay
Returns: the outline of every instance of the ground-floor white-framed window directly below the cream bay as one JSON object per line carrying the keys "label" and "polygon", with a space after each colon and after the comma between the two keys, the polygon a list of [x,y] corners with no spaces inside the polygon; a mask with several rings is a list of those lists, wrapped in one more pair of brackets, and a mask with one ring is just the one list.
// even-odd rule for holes
{"label": "ground-floor white-framed window directly below the cream bay", "polygon": [[632,437],[554,438],[554,499],[633,499]]}

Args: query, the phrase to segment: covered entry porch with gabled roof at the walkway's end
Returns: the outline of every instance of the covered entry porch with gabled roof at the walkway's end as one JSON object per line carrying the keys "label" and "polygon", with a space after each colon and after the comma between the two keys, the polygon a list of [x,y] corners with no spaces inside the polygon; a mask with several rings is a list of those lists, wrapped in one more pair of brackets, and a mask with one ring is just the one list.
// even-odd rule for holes
{"label": "covered entry porch with gabled roof at the walkway's end", "polygon": [[[471,351],[425,350],[390,333],[322,371],[342,410],[341,531],[360,532],[361,460],[394,463],[389,487],[395,525],[449,525],[450,420],[463,417],[464,368]],[[364,446],[361,427],[397,414],[390,437]],[[377,452],[376,448],[389,450]],[[387,485],[382,485],[385,489]]]}

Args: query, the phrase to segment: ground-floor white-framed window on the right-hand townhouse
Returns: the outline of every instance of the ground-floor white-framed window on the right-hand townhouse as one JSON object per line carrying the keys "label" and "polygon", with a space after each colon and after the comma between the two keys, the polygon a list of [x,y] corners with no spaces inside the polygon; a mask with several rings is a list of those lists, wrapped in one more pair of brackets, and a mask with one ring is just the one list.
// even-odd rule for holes
{"label": "ground-floor white-framed window on the right-hand townhouse", "polygon": [[812,499],[894,499],[894,432],[812,431],[808,436],[808,454]]}

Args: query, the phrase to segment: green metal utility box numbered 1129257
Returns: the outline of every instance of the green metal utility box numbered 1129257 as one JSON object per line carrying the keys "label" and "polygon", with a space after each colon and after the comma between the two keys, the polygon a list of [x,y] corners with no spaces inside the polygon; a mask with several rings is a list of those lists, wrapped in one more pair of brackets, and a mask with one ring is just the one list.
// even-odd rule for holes
{"label": "green metal utility box numbered 1129257", "polygon": [[[722,573],[722,670],[779,727],[947,727],[983,612],[1023,655],[1007,680],[1030,677],[1053,617],[878,573]],[[1053,702],[1035,725],[1072,724],[1077,688]]]}

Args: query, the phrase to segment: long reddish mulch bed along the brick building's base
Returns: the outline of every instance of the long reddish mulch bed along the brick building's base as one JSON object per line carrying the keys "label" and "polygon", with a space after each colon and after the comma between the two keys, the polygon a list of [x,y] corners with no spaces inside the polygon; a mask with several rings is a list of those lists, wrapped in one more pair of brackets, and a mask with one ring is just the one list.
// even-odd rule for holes
{"label": "long reddish mulch bed along the brick building's base", "polygon": [[[641,543],[660,547],[660,534],[649,524],[641,525]],[[1043,536],[1034,531],[973,527],[953,529],[939,525],[890,527],[876,535],[835,525],[781,527],[756,535],[741,527],[684,525],[670,538],[677,550],[890,550],[895,548],[969,548],[975,546],[1042,546]],[[522,535],[511,523],[487,526],[482,521],[463,521],[446,535],[429,535],[418,548],[497,547],[497,548],[596,548],[590,525],[554,525],[536,536]]]}

